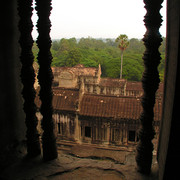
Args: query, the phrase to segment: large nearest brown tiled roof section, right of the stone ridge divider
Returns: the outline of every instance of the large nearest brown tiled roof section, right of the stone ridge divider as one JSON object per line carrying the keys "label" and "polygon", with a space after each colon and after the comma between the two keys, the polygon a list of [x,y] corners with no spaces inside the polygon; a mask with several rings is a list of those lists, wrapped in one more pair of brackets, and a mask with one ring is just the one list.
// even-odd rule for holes
{"label": "large nearest brown tiled roof section, right of the stone ridge divider", "polygon": [[134,97],[100,96],[86,94],[80,104],[80,115],[139,119],[140,99]]}

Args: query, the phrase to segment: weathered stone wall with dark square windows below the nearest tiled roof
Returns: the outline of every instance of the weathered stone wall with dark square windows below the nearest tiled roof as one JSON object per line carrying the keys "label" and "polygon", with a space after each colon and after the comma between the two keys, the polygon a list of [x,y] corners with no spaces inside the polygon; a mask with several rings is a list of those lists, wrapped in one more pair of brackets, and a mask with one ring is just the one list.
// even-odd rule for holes
{"label": "weathered stone wall with dark square windows below the nearest tiled roof", "polygon": [[[38,116],[41,118],[40,116]],[[54,113],[58,140],[104,145],[136,143],[139,121],[79,117],[75,114]]]}

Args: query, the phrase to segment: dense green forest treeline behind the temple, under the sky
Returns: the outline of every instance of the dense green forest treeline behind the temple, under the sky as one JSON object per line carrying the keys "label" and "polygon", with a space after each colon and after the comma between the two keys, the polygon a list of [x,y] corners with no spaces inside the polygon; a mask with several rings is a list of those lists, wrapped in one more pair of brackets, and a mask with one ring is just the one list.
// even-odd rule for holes
{"label": "dense green forest treeline behind the temple, under the sky", "polygon": [[[145,47],[143,41],[130,39],[129,46],[124,52],[123,75],[124,79],[130,81],[140,81],[144,70],[143,52]],[[163,81],[165,65],[165,38],[159,48],[161,53],[161,63],[159,65],[160,79]],[[37,59],[38,48],[36,43],[33,52]],[[85,67],[98,67],[101,64],[102,77],[119,78],[121,51],[117,47],[115,39],[94,39],[70,38],[54,40],[52,42],[51,53],[53,56],[52,66],[75,66],[83,64]]]}

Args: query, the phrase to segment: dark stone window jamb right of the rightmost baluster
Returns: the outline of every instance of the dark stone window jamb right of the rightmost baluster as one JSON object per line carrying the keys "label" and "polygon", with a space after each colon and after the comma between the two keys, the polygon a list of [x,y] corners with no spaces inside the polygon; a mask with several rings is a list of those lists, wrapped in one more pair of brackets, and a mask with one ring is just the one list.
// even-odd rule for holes
{"label": "dark stone window jamb right of the rightmost baluster", "polygon": [[[164,104],[159,138],[159,179],[179,176],[180,1],[167,1],[167,40]],[[177,163],[175,163],[177,162]]]}

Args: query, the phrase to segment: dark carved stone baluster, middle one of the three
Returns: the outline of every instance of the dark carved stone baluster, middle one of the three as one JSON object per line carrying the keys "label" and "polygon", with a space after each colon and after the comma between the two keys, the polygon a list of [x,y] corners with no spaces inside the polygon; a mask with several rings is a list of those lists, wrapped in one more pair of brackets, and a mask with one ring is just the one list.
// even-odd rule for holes
{"label": "dark carved stone baluster, middle one of the three", "polygon": [[38,14],[38,40],[39,47],[38,63],[39,63],[39,84],[40,84],[40,99],[42,105],[40,112],[43,115],[42,119],[42,145],[43,145],[43,158],[44,160],[52,160],[57,158],[56,138],[54,134],[54,120],[52,117],[52,80],[53,74],[51,70],[52,55],[50,52],[51,38],[49,20],[51,12],[51,0],[36,0],[36,10]]}

